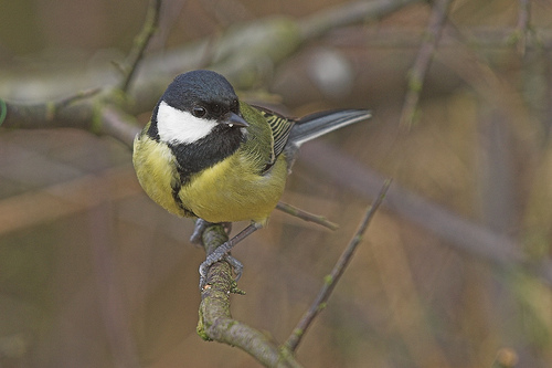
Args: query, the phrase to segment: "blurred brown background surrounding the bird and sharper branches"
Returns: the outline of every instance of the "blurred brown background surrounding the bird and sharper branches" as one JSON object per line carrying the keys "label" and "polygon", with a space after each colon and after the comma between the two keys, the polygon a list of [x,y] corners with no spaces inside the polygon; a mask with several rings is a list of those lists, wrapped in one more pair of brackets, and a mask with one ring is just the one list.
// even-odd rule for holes
{"label": "blurred brown background surrounding the bird and sharper branches", "polygon": [[[431,4],[411,2],[266,61],[263,78],[233,81],[243,98],[293,116],[374,115],[305,146],[283,200],[340,229],[275,211],[233,252],[247,293],[232,297],[233,316],[285,341],[373,200],[364,183],[392,177],[299,361],[551,367],[552,3],[453,1],[413,123],[401,126],[408,72],[431,40]],[[347,4],[167,0],[147,53],[163,60],[274,15],[300,27]],[[112,62],[125,59],[147,7],[3,1],[0,97],[49,101],[116,83]],[[153,104],[141,106],[141,124]],[[188,241],[192,227],[146,197],[119,141],[0,129],[0,367],[257,367],[195,334],[204,252]]]}

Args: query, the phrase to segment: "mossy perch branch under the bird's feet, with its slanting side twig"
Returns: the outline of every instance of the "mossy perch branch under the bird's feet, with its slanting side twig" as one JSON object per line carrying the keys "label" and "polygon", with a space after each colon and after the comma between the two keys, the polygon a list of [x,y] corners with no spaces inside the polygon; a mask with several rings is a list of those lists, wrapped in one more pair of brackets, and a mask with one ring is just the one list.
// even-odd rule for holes
{"label": "mossy perch branch under the bird's feet, with its slanting side twig", "polygon": [[[323,306],[341,278],[347,265],[352,260],[370,221],[378,211],[391,185],[386,180],[374,203],[369,208],[359,230],[343,251],[331,273],[325,277],[325,284],[311,307],[305,313],[293,334],[282,348],[278,348],[266,334],[263,334],[243,323],[232,318],[230,313],[230,294],[238,293],[236,283],[232,275],[232,267],[225,261],[220,261],[211,266],[208,274],[206,285],[201,293],[200,319],[198,334],[206,340],[236,346],[255,357],[266,367],[300,367],[295,360],[294,353],[308,327]],[[205,252],[210,254],[220,244],[229,240],[224,227],[214,224],[205,229],[202,235]]]}

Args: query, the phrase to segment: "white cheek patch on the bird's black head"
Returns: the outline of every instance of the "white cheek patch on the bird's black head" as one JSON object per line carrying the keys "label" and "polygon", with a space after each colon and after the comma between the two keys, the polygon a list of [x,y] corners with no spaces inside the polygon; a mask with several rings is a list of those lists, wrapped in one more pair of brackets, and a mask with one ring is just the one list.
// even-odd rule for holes
{"label": "white cheek patch on the bird's black head", "polygon": [[159,104],[157,129],[161,140],[171,144],[192,144],[208,136],[217,125],[215,120],[201,119],[181,112],[166,102]]}

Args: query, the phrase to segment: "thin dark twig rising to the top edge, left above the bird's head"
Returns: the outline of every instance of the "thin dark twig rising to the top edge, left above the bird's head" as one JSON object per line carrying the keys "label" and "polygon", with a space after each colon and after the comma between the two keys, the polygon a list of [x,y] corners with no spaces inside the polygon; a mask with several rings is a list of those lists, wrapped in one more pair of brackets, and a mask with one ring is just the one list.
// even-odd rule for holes
{"label": "thin dark twig rising to the top edge, left above the bird's head", "polygon": [[[144,52],[148,46],[149,40],[157,30],[159,24],[159,13],[161,11],[161,0],[150,0],[148,6],[148,12],[146,14],[146,20],[144,21],[144,27],[135,38],[132,49],[127,56],[127,65],[121,67],[124,72],[124,78],[120,83],[120,90],[128,92],[130,82],[138,69],[138,64],[144,57]],[[120,65],[119,65],[120,66]]]}

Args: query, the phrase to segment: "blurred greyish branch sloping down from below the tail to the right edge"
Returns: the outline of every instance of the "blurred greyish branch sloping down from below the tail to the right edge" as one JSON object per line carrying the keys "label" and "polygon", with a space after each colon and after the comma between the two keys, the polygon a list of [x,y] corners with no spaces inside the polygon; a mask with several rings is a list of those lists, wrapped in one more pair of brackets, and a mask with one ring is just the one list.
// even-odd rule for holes
{"label": "blurred greyish branch sloping down from below the tail to the right edge", "polygon": [[[301,160],[325,172],[336,182],[364,198],[374,198],[378,183],[384,180],[351,157],[317,141],[301,147]],[[332,170],[327,168],[331,167]],[[424,198],[393,186],[386,197],[386,207],[420,227],[447,241],[454,249],[466,252],[502,270],[524,270],[552,285],[550,262],[529,263],[521,246],[505,234],[473,223]]]}

